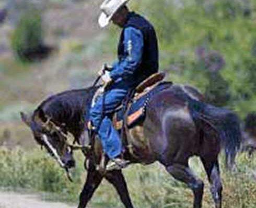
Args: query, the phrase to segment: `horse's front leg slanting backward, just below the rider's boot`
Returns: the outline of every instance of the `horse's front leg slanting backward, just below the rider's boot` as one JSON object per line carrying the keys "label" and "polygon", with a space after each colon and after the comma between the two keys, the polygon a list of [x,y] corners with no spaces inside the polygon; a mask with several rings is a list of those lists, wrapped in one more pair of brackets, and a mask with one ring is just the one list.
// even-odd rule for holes
{"label": "horse's front leg slanting backward, just below the rider's boot", "polygon": [[133,204],[122,171],[110,171],[107,172],[104,177],[117,190],[125,208],[133,208]]}

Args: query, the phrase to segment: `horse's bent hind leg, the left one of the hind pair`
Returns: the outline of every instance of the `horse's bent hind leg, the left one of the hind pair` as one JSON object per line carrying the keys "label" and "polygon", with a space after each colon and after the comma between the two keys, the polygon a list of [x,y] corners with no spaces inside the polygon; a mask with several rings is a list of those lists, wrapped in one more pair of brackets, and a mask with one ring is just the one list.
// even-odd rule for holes
{"label": "horse's bent hind leg, the left one of the hind pair", "polygon": [[202,207],[202,198],[204,192],[203,181],[198,179],[188,166],[173,164],[166,167],[166,170],[177,180],[187,184],[194,193],[194,208]]}

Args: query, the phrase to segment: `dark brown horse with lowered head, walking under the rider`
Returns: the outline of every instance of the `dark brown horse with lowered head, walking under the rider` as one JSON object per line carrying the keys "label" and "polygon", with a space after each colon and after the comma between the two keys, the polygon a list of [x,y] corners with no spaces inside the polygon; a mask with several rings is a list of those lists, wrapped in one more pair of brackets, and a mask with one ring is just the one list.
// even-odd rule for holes
{"label": "dark brown horse with lowered head, walking under the rider", "polygon": [[[78,144],[87,144],[84,118],[97,89],[68,90],[45,99],[32,115],[21,113],[34,139],[66,170],[75,166],[74,146],[67,142],[67,135],[73,135]],[[150,98],[145,119],[127,129],[126,136],[134,144],[143,141],[144,145],[134,145],[136,156],[127,153],[125,159],[143,164],[158,161],[164,165],[170,175],[192,190],[194,208],[202,207],[204,183],[194,175],[188,160],[194,155],[200,157],[211,184],[215,208],[222,207],[218,155],[224,148],[226,164],[231,167],[241,143],[239,119],[234,112],[204,103],[196,94],[186,92],[183,85],[170,84]],[[91,150],[83,152],[88,173],[78,208],[86,207],[103,178],[114,186],[124,206],[133,208],[122,170],[102,172],[97,168],[96,164],[104,157],[100,140],[96,138]]]}

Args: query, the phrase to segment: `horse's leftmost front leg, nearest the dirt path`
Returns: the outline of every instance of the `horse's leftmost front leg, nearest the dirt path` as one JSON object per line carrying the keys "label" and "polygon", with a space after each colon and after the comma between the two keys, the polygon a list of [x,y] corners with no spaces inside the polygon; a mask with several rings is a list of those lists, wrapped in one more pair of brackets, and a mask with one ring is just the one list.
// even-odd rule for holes
{"label": "horse's leftmost front leg, nearest the dirt path", "polygon": [[79,197],[78,208],[85,208],[88,201],[91,199],[92,194],[101,183],[103,176],[100,172],[95,170],[93,165],[89,165],[86,182]]}

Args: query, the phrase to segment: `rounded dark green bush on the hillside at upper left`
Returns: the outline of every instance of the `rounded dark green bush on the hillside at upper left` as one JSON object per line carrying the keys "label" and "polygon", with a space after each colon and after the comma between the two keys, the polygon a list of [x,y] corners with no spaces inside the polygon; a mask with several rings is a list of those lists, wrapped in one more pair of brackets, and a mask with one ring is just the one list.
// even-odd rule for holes
{"label": "rounded dark green bush on the hillside at upper left", "polygon": [[38,9],[30,8],[24,11],[17,27],[11,36],[11,47],[16,56],[27,60],[26,55],[37,51],[43,42],[42,17]]}

